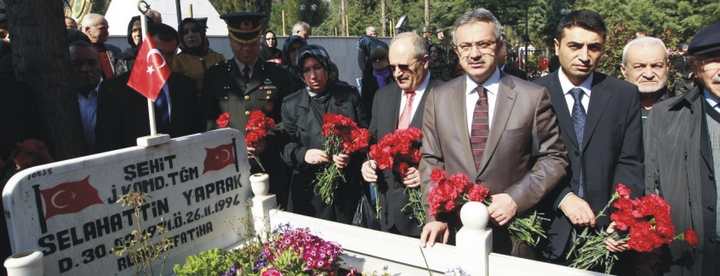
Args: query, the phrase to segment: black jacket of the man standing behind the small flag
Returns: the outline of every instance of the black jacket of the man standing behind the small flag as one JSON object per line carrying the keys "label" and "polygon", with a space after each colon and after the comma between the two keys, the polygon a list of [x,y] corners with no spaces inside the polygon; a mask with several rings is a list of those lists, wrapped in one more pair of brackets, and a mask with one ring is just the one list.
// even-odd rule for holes
{"label": "black jacket of the man standing behind the small flag", "polygon": [[[95,134],[99,151],[135,146],[137,137],[150,135],[147,98],[127,86],[129,77],[128,72],[108,81],[98,93]],[[172,73],[168,89],[170,123],[158,123],[158,133],[175,138],[205,131],[192,79]],[[157,110],[155,115],[160,116]]]}

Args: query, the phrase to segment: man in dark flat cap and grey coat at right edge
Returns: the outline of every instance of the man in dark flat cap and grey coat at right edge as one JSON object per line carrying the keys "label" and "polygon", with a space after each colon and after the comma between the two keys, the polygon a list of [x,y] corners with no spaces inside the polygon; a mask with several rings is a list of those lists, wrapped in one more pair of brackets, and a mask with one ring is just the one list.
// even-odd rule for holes
{"label": "man in dark flat cap and grey coat at right edge", "polygon": [[646,192],[672,207],[677,232],[695,229],[698,246],[673,242],[655,255],[658,274],[720,275],[720,22],[692,39],[695,87],[658,103],[648,116]]}

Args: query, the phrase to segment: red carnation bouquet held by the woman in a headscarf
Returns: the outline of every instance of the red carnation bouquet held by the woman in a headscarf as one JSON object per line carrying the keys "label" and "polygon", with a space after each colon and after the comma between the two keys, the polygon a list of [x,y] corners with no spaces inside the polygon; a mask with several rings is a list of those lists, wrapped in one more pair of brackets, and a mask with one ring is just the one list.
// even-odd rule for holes
{"label": "red carnation bouquet held by the woman in a headscarf", "polygon": [[[325,153],[332,158],[337,154],[352,154],[368,147],[370,132],[358,127],[352,119],[340,114],[326,113],[323,115],[322,135],[325,137]],[[335,200],[335,189],[338,180],[345,183],[340,168],[332,160],[315,178],[315,193],[320,195],[323,203],[331,205]]]}

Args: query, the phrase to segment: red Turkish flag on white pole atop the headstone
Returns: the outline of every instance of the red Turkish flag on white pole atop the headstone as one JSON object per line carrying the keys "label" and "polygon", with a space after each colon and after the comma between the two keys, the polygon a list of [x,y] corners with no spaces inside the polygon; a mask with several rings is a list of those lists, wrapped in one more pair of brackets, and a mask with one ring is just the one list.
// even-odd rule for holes
{"label": "red Turkish flag on white pole atop the headstone", "polygon": [[155,101],[160,95],[160,89],[170,78],[170,73],[170,66],[168,66],[160,50],[155,48],[150,36],[143,36],[140,51],[135,57],[135,63],[130,72],[128,86],[146,98]]}

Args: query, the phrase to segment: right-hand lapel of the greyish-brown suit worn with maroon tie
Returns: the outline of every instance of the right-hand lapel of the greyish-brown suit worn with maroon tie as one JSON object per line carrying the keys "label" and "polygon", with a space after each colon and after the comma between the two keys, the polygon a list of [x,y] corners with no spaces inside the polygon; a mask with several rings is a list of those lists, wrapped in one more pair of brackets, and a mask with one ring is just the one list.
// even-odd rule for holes
{"label": "right-hand lapel of the greyish-brown suit worn with maroon tie", "polygon": [[495,153],[495,149],[500,142],[502,133],[505,131],[508,119],[510,119],[510,114],[512,113],[513,106],[515,105],[515,96],[517,93],[513,89],[514,87],[515,84],[509,77],[500,78],[500,89],[498,89],[498,93],[495,97],[495,111],[493,114],[492,126],[490,127],[490,135],[488,136],[488,142],[485,146],[485,151],[483,152],[483,159],[480,163],[480,170],[478,171],[478,174],[482,174],[487,167],[488,161],[493,153]]}

